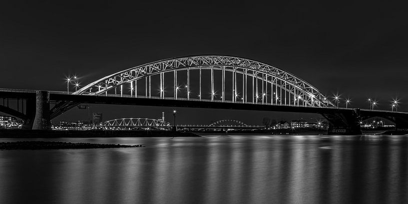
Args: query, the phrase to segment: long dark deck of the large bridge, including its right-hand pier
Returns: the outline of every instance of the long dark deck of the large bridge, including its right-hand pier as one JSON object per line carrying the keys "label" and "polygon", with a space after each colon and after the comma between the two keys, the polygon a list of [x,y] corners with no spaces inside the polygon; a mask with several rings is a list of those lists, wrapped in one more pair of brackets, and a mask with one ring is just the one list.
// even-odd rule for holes
{"label": "long dark deck of the large bridge, including its right-hand pier", "polygon": [[[160,98],[160,97],[141,97],[130,95],[72,95],[66,92],[49,91],[49,98],[42,96],[45,101],[55,104],[50,110],[42,110],[38,99],[41,97],[35,90],[13,90],[0,89],[0,99],[3,99],[3,106],[0,106],[0,111],[19,117],[29,121],[26,125],[32,124],[35,115],[44,115],[45,120],[50,120],[63,112],[78,106],[81,103],[86,104],[113,104],[113,105],[138,105],[138,106],[167,106],[167,107],[189,107],[189,108],[212,108],[212,109],[234,109],[234,110],[256,110],[256,111],[279,111],[279,112],[298,112],[298,113],[317,113],[323,115],[330,122],[334,133],[344,132],[348,134],[359,134],[360,121],[372,117],[383,117],[396,123],[397,129],[408,130],[408,113],[391,112],[384,110],[368,110],[368,109],[353,109],[353,108],[333,108],[333,107],[305,107],[294,105],[271,105],[262,103],[242,103],[232,101],[217,101],[217,100],[199,100],[199,99],[177,99]],[[25,113],[19,110],[6,107],[4,100],[24,100]],[[37,101],[37,102],[36,102]],[[8,104],[8,103],[7,103]],[[23,107],[22,107],[23,108]],[[45,108],[47,109],[47,108]],[[36,114],[37,112],[37,114]],[[41,114],[38,114],[41,112]],[[43,123],[42,116],[39,119]]]}

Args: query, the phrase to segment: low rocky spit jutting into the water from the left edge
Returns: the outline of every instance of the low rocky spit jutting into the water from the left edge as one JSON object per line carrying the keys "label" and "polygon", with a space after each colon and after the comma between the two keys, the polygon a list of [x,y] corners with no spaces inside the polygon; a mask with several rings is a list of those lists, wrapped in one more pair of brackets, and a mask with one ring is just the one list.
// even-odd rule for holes
{"label": "low rocky spit jutting into the water from the left edge", "polygon": [[0,150],[45,150],[45,149],[96,149],[96,148],[131,148],[143,145],[93,144],[70,142],[19,141],[1,142]]}

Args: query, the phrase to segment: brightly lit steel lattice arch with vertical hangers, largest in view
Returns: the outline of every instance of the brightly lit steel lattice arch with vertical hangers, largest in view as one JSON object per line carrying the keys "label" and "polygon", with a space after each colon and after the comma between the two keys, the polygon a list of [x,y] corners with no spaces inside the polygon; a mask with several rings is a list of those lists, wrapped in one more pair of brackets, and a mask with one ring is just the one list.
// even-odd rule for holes
{"label": "brightly lit steel lattice arch with vertical hangers, largest in view", "polygon": [[[137,95],[137,83],[135,81],[145,79],[146,94],[143,97],[152,98],[151,77],[154,75],[160,75],[159,92],[160,98],[164,99],[166,87],[164,85],[164,74],[169,74],[168,72],[172,72],[172,75],[174,76],[170,81],[172,84],[171,89],[174,89],[172,99],[180,100],[182,98],[177,96],[177,93],[179,92],[177,72],[184,70],[186,70],[187,76],[187,96],[185,97],[187,100],[205,100],[202,99],[203,94],[201,93],[201,73],[202,70],[211,70],[211,101],[218,100],[222,102],[238,103],[269,103],[271,105],[335,107],[333,103],[328,100],[327,97],[325,97],[318,89],[294,74],[251,59],[219,55],[177,57],[143,64],[103,77],[84,86],[73,94],[112,95],[111,92],[114,90],[115,95],[123,96],[124,87],[127,87],[128,89],[126,90],[131,90],[131,97],[142,97]],[[197,93],[197,98],[190,96],[191,89],[189,86],[189,73],[193,70],[199,70],[200,73],[200,91]],[[222,90],[214,89],[216,71],[217,73],[222,73]],[[227,82],[225,79],[226,72],[230,74],[232,73],[231,90],[226,88],[226,86],[231,85],[231,82]],[[166,82],[168,81],[169,80],[166,80]],[[242,86],[239,88],[240,90],[238,90],[240,84],[237,86],[237,83],[241,82]],[[251,86],[251,88],[248,88],[248,86]],[[116,88],[119,88],[120,93],[117,93]],[[251,89],[252,92],[250,93]],[[133,90],[135,90],[136,94],[133,94]],[[198,90],[198,88],[196,90]],[[231,100],[226,99],[226,93],[228,91],[231,91],[231,94],[229,94],[229,96],[231,96]],[[215,97],[216,92],[219,93],[218,98]],[[127,92],[125,91],[125,95],[126,94]],[[168,99],[168,97],[166,99]]]}

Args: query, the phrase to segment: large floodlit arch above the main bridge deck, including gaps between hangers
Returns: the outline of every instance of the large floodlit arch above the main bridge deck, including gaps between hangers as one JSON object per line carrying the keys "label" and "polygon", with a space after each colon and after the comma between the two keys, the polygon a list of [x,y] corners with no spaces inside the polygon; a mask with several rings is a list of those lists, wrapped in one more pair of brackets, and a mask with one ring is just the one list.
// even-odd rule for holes
{"label": "large floodlit arch above the main bridge deck, including gaps between hangers", "polygon": [[287,71],[219,55],[143,64],[98,79],[73,94],[335,107],[318,89]]}

